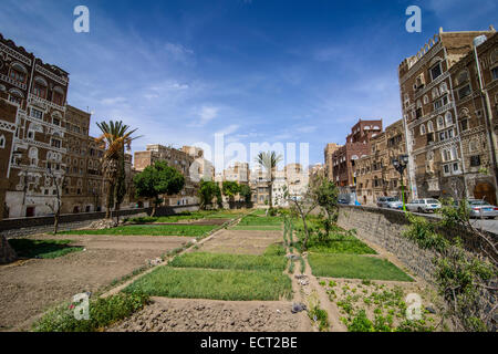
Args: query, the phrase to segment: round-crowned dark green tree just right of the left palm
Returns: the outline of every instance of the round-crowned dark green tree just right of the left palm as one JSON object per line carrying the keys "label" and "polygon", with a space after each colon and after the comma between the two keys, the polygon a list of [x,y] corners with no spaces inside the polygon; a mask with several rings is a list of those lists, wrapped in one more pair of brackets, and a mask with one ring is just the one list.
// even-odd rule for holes
{"label": "round-crowned dark green tree just right of the left palm", "polygon": [[156,208],[162,202],[159,196],[176,195],[185,186],[184,175],[176,168],[168,166],[166,162],[156,162],[153,166],[146,167],[133,178],[133,181],[138,197],[154,200],[151,216],[155,216]]}

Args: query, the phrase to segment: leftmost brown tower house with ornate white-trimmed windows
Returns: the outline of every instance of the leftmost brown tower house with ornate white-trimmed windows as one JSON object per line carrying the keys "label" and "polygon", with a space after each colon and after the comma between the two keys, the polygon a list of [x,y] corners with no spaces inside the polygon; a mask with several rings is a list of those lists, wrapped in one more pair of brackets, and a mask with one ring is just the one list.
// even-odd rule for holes
{"label": "leftmost brown tower house with ornate white-trimmed windows", "polygon": [[[43,63],[0,34],[0,98],[17,110],[15,122],[11,107],[4,108],[9,114],[0,117],[7,122],[2,123],[2,134],[8,133],[6,143],[11,144],[6,156],[9,166],[4,197],[6,214],[11,218],[53,212],[56,188],[62,191],[65,175],[68,87],[65,71]],[[6,179],[0,185],[4,186]]]}

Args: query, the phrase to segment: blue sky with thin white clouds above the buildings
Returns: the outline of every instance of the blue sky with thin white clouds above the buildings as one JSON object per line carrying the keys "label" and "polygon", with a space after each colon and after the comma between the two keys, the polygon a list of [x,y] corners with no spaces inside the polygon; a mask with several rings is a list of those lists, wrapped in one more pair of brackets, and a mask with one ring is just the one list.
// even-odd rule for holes
{"label": "blue sky with thin white clouds above the buildings", "polygon": [[[0,33],[70,73],[68,103],[92,112],[94,136],[96,122],[122,119],[142,135],[133,150],[210,146],[208,157],[220,162],[218,133],[225,164],[243,159],[229,153],[242,146],[252,163],[250,144],[264,142],[295,143],[298,160],[299,144],[309,144],[315,164],[360,118],[400,119],[403,59],[440,27],[497,27],[497,3],[2,0]],[[73,30],[80,4],[90,10],[89,33]],[[405,30],[413,4],[421,33]]]}

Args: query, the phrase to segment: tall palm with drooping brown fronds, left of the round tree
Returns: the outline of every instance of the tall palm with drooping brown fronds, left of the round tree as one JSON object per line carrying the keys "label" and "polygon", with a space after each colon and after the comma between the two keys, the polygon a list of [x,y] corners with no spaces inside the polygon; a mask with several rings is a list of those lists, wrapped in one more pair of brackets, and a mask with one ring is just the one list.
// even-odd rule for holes
{"label": "tall palm with drooping brown fronds, left of the round tree", "polygon": [[[132,142],[137,137],[132,137],[132,134],[137,129],[129,131],[129,126],[120,122],[101,122],[97,123],[98,128],[102,131],[102,135],[96,138],[97,144],[102,144],[105,148],[104,156],[102,158],[102,169],[104,171],[104,179],[107,181],[107,210],[105,212],[105,218],[111,218],[111,208],[114,204],[114,194],[116,189],[116,184],[121,189],[121,180],[124,176],[124,167],[120,166],[124,164],[124,152],[125,147],[129,150],[132,148]],[[120,190],[117,191],[117,201],[121,202]],[[116,206],[118,209],[118,206]]]}

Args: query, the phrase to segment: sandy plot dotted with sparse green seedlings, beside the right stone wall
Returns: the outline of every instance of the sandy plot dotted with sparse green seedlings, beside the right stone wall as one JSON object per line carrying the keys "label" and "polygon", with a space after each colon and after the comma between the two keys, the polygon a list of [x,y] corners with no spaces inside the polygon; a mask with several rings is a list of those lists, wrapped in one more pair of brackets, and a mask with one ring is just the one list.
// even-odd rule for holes
{"label": "sandy plot dotted with sparse green seedlings, beside the right stone wall", "polygon": [[[330,278],[319,281],[330,301],[338,305],[340,320],[350,332],[429,332],[440,321],[434,304],[439,300],[427,284]],[[407,317],[406,310],[412,304],[408,294],[413,299],[419,296],[419,319]]]}

